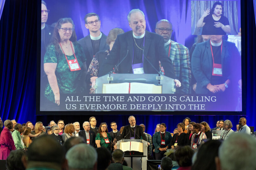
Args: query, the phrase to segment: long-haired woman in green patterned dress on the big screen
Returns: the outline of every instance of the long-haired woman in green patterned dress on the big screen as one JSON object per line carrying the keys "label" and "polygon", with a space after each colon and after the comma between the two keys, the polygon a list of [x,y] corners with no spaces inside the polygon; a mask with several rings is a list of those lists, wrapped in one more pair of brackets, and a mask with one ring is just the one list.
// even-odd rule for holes
{"label": "long-haired woman in green patterned dress on the big screen", "polygon": [[44,55],[44,71],[49,83],[45,89],[48,105],[60,105],[61,94],[82,93],[82,77],[86,73],[86,58],[76,41],[75,25],[71,18],[60,19],[54,28],[53,42]]}

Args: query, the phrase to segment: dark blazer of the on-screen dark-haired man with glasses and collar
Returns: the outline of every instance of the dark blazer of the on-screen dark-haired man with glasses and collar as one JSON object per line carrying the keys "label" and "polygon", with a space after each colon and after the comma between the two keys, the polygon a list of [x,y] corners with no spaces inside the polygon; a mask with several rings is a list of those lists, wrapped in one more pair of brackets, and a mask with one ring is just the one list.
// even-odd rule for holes
{"label": "dark blazer of the on-screen dark-haired man with glasses and collar", "polygon": [[[109,46],[106,43],[106,39],[107,39],[107,36],[104,33],[102,33],[99,51],[109,49]],[[86,66],[88,69],[93,59],[93,48],[92,48],[92,41],[91,41],[90,34],[82,39],[79,39],[78,42],[81,44],[83,51],[85,53]]]}

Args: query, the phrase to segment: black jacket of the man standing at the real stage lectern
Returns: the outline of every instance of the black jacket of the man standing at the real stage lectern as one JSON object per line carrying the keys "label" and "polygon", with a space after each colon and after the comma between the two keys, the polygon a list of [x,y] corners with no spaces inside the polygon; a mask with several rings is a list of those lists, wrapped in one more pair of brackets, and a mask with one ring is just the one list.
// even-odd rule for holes
{"label": "black jacket of the man standing at the real stage lectern", "polygon": [[[137,134],[137,135],[136,135]],[[121,134],[121,139],[130,139],[131,136],[131,125],[124,126],[124,129]],[[143,132],[143,128],[139,125],[135,125],[135,139],[142,139],[145,141],[147,140],[147,137],[145,136]]]}

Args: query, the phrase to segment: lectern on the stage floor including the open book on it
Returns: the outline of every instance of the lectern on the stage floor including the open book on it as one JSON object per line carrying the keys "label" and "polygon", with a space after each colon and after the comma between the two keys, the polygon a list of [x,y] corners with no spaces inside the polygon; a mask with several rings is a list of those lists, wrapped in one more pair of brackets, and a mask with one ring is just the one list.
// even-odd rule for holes
{"label": "lectern on the stage floor including the open book on it", "polygon": [[[117,141],[117,149],[125,152],[124,159],[133,169],[147,170],[148,142],[142,139],[122,139]],[[142,151],[142,152],[141,152]]]}

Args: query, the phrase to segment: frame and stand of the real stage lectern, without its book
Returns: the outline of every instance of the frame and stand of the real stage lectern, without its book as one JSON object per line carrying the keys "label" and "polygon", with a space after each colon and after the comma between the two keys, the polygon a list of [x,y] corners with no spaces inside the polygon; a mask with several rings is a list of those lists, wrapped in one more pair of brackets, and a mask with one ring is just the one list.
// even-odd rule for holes
{"label": "frame and stand of the real stage lectern, without its book", "polygon": [[142,139],[122,139],[117,141],[117,149],[120,149],[121,142],[140,142],[143,143],[143,155],[131,154],[133,151],[130,151],[130,154],[125,154],[124,159],[127,161],[129,167],[133,169],[147,169],[147,159],[148,159],[148,142]]}

